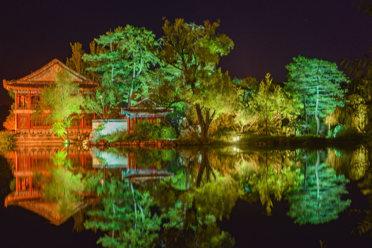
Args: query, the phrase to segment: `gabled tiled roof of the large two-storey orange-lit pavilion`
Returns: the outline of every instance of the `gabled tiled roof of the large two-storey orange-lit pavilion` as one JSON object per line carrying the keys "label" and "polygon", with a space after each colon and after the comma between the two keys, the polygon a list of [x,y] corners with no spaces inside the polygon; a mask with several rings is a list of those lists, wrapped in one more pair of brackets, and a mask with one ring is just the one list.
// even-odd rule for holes
{"label": "gabled tiled roof of the large two-storey orange-lit pavilion", "polygon": [[3,80],[3,86],[7,90],[42,90],[45,86],[55,83],[55,73],[58,71],[66,71],[72,78],[74,83],[79,85],[81,91],[92,91],[99,86],[99,83],[93,82],[83,75],[67,67],[58,59],[53,59],[48,64],[44,65],[39,70],[19,78],[17,80]]}

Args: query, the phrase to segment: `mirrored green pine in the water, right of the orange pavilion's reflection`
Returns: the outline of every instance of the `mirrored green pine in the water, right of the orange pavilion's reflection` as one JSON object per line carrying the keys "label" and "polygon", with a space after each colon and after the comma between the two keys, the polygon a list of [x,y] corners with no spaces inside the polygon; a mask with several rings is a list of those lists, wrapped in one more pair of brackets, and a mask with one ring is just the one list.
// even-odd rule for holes
{"label": "mirrored green pine in the water, right of the orange pavilion's reflection", "polygon": [[90,211],[85,228],[108,231],[97,243],[103,247],[153,247],[161,219],[151,215],[148,192],[133,188],[131,181],[106,180],[97,187],[98,209]]}

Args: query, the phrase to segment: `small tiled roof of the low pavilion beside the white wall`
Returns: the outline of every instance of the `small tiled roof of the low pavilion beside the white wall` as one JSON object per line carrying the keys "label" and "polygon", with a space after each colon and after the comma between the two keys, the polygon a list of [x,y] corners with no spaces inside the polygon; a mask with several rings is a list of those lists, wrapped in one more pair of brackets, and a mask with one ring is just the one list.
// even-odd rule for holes
{"label": "small tiled roof of the low pavilion beside the white wall", "polygon": [[173,112],[173,108],[163,107],[154,101],[144,98],[130,107],[121,109],[122,115],[166,115]]}

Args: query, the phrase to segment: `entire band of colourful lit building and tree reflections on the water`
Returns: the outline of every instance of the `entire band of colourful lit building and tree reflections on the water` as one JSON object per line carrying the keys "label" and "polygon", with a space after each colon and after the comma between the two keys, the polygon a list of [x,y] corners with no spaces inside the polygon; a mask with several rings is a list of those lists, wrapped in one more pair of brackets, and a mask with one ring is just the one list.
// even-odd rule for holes
{"label": "entire band of colourful lit building and tree reflections on the water", "polygon": [[363,193],[372,192],[363,146],[354,151],[33,147],[8,156],[15,178],[6,206],[22,206],[56,225],[74,215],[76,230],[105,233],[98,240],[103,247],[233,247],[234,238],[217,220],[229,218],[237,199],[260,202],[266,215],[285,199],[283,218],[316,225],[336,220],[350,206],[349,180],[362,179]]}

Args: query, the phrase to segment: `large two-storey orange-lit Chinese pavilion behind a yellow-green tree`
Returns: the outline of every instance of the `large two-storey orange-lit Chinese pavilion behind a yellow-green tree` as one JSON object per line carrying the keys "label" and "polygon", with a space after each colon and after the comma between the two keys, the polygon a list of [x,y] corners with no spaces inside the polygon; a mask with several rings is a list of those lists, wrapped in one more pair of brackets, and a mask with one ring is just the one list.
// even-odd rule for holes
{"label": "large two-storey orange-lit Chinese pavilion behind a yellow-green tree", "polygon": [[[15,132],[16,133],[48,133],[52,124],[50,120],[43,117],[32,118],[34,108],[40,100],[40,93],[45,86],[55,83],[57,71],[67,71],[74,83],[79,85],[83,94],[93,94],[99,83],[71,70],[58,59],[53,59],[39,70],[17,80],[3,80],[6,90],[15,94]],[[81,133],[92,131],[92,116],[73,120],[70,128],[72,133],[80,130]]]}

